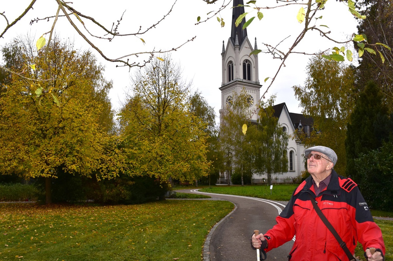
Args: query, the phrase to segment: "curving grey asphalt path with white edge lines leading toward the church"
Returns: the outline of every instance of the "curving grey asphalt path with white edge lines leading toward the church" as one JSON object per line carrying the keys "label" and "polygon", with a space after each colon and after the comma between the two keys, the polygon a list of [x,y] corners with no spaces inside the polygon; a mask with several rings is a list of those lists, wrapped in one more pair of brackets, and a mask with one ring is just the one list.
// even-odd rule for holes
{"label": "curving grey asphalt path with white edge lines leading toward the church", "polygon": [[[256,250],[250,245],[253,231],[257,229],[264,233],[272,228],[276,224],[275,217],[284,208],[282,203],[267,199],[204,193],[196,189],[176,191],[204,194],[235,204],[235,209],[211,229],[204,246],[204,261],[257,260]],[[288,260],[293,243],[292,240],[271,250],[267,253],[266,261]]]}

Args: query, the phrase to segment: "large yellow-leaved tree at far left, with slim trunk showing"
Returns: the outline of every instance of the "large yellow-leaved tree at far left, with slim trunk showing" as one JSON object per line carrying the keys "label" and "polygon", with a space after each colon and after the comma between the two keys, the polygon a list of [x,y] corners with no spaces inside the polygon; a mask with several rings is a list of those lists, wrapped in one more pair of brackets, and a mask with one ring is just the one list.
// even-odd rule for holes
{"label": "large yellow-leaved tree at far left, with slim trunk showing", "polygon": [[119,166],[108,147],[113,120],[103,114],[110,110],[105,95],[112,83],[90,52],[76,51],[70,42],[53,39],[46,57],[32,46],[28,37],[17,38],[3,50],[6,67],[26,78],[9,74],[2,83],[0,173],[45,177],[50,203],[51,178],[59,171],[97,179],[116,175]]}

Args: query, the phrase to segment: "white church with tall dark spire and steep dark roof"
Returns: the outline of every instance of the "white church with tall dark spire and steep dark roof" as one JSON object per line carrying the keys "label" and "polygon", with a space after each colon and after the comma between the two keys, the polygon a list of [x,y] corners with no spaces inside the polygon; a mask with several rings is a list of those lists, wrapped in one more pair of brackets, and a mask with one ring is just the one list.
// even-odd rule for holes
{"label": "white church with tall dark spire and steep dark roof", "polygon": [[[243,5],[243,0],[233,0],[233,6]],[[250,53],[257,49],[257,39],[254,45],[251,44],[247,35],[247,28],[242,29],[245,19],[235,26],[235,21],[239,15],[244,13],[244,7],[235,7],[232,11],[231,36],[225,46],[222,43],[222,84],[220,119],[227,106],[231,105],[233,94],[240,93],[246,89],[247,102],[250,110],[257,111],[257,101],[261,98],[260,90],[262,85],[259,83],[258,55]],[[303,114],[291,113],[285,103],[274,105],[275,117],[283,130],[293,137],[296,129],[302,129],[310,133],[312,128],[312,118],[306,118]],[[258,112],[258,111],[257,111]],[[256,121],[258,113],[254,113],[251,120]],[[304,145],[300,140],[290,138],[288,140],[288,172],[273,174],[272,183],[292,183],[294,179],[301,175],[305,170]],[[219,183],[227,183],[229,175],[224,172],[221,174]],[[253,183],[266,183],[266,175],[253,174]]]}

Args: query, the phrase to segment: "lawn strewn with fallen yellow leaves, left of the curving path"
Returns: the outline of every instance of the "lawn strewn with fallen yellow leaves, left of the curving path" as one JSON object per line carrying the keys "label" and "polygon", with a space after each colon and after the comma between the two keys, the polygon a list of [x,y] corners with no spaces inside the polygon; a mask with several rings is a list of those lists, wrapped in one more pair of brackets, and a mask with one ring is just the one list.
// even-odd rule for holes
{"label": "lawn strewn with fallen yellow leaves, left of the curving path", "polygon": [[206,235],[233,209],[227,201],[143,205],[0,204],[0,259],[199,261]]}

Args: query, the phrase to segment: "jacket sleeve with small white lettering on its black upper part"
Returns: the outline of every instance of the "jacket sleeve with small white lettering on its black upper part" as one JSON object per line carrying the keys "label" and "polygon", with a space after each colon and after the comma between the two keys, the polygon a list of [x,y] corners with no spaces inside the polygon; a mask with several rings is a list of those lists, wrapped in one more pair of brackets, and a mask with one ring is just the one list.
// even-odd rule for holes
{"label": "jacket sleeve with small white lettering on its black upper part", "polygon": [[382,250],[385,255],[385,244],[382,238],[382,231],[373,220],[373,216],[369,210],[358,187],[354,188],[354,198],[356,199],[355,207],[355,222],[356,222],[356,236],[358,241],[362,244],[363,250],[375,247]]}

